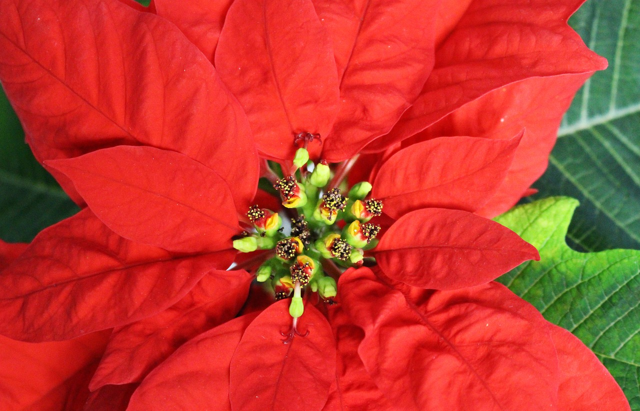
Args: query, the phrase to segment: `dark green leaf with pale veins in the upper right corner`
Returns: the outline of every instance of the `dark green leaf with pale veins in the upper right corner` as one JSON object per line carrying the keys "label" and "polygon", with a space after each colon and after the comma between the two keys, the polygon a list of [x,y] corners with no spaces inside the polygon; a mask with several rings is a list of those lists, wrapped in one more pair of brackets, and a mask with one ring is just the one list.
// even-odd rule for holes
{"label": "dark green leaf with pale veins in the upper right corner", "polygon": [[640,249],[640,0],[589,0],[570,24],[609,68],[576,95],[534,198],[579,199],[577,249]]}

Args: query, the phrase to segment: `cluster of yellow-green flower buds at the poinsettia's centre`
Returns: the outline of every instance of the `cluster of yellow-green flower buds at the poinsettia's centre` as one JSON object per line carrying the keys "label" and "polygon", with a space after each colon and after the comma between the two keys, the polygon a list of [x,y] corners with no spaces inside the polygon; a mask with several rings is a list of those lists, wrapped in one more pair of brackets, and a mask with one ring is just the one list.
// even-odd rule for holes
{"label": "cluster of yellow-green flower buds at the poinsettia's centre", "polygon": [[371,184],[358,183],[344,196],[333,187],[338,182],[330,183],[331,177],[329,166],[314,164],[307,150],[300,148],[291,175],[273,181],[283,213],[291,221],[289,235],[283,233],[280,214],[254,205],[247,216],[255,232],[234,240],[241,252],[273,250],[257,269],[257,281],[278,300],[291,297],[289,313],[294,319],[303,313],[305,290],[332,304],[337,293],[335,273],[362,266],[365,251],[378,243],[380,226],[369,220],[381,215],[382,202],[366,199]]}

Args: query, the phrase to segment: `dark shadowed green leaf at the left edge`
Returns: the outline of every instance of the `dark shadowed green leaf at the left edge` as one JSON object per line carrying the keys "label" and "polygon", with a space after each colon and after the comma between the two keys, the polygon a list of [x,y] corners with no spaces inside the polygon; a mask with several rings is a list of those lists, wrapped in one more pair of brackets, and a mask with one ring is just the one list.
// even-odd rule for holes
{"label": "dark shadowed green leaf at the left edge", "polygon": [[79,208],[33,158],[24,132],[0,89],[0,238],[29,242]]}

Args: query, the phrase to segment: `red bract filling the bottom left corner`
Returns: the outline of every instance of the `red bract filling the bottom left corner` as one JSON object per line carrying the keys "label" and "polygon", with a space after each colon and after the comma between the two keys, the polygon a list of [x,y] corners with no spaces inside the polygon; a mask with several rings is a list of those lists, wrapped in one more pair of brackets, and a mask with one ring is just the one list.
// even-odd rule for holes
{"label": "red bract filling the bottom left corner", "polygon": [[0,409],[79,410],[109,332],[70,341],[23,343],[0,336]]}

